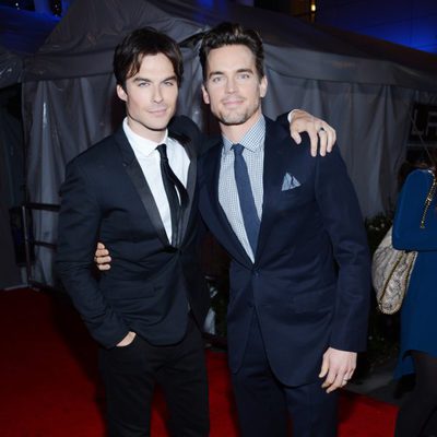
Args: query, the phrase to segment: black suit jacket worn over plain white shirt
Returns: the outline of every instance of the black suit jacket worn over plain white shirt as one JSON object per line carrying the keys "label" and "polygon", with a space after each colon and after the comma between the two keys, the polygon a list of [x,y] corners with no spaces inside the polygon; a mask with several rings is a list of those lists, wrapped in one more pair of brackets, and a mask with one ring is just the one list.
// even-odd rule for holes
{"label": "black suit jacket worn over plain white shirt", "polygon": [[[198,253],[199,135],[187,118],[176,119],[169,130],[190,157],[189,206],[179,249],[167,239],[122,128],[67,166],[56,265],[91,334],[106,347],[115,346],[129,330],[152,344],[176,343],[185,334],[189,307],[199,326],[203,323],[209,295]],[[92,274],[97,241],[113,258],[99,282]]]}

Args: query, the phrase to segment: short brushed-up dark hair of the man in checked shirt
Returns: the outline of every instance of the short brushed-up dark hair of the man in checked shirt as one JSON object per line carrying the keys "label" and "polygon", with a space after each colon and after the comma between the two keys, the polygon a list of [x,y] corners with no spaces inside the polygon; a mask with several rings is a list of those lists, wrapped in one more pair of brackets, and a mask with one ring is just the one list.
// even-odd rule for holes
{"label": "short brushed-up dark hair of the man in checked shirt", "polygon": [[203,80],[206,80],[206,60],[208,55],[214,48],[224,46],[246,46],[255,56],[255,64],[259,78],[264,73],[264,48],[261,36],[252,28],[245,28],[238,23],[221,23],[206,32],[202,37],[202,44],[199,49],[200,63],[203,71]]}

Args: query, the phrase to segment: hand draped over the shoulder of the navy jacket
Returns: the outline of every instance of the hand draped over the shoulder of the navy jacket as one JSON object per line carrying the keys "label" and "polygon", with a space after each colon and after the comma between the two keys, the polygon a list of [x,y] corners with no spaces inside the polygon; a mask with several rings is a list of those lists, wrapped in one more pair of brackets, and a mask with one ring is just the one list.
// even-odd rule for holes
{"label": "hand draped over the shoulder of the navy jacket", "polygon": [[319,153],[324,156],[327,152],[332,152],[336,141],[335,129],[331,128],[326,121],[314,117],[302,109],[295,109],[292,114],[290,132],[297,144],[300,144],[302,132],[307,132],[311,142],[311,156],[317,155],[317,143],[319,142]]}

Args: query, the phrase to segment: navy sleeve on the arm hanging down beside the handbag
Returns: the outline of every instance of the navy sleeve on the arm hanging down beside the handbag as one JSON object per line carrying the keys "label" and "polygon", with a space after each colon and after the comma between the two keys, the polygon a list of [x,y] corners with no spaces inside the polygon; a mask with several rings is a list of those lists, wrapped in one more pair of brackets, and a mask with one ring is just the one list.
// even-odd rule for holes
{"label": "navy sleeve on the arm hanging down beside the handbag", "polygon": [[330,346],[363,351],[367,345],[370,257],[354,187],[338,147],[317,157],[316,198],[338,263]]}

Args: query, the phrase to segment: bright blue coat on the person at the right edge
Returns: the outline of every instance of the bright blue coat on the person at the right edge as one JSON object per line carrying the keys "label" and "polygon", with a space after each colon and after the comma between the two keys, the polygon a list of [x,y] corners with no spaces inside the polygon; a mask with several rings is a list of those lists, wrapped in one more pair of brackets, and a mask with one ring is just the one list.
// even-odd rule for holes
{"label": "bright blue coat on the person at the right edge", "polygon": [[409,175],[402,188],[393,223],[393,246],[417,250],[409,290],[401,310],[401,347],[395,376],[414,373],[410,351],[437,357],[437,200],[420,227],[425,198],[433,182],[428,170]]}

